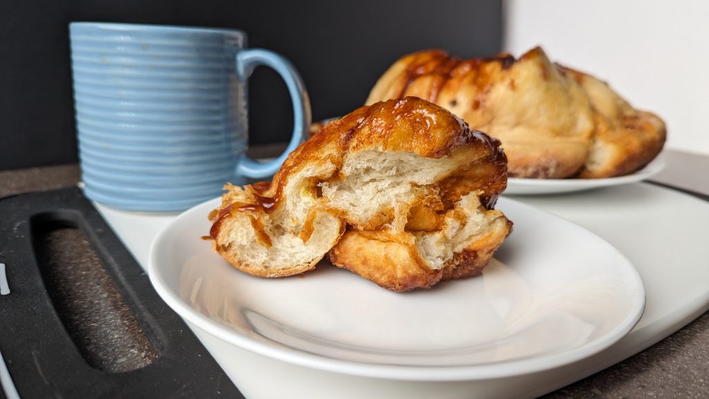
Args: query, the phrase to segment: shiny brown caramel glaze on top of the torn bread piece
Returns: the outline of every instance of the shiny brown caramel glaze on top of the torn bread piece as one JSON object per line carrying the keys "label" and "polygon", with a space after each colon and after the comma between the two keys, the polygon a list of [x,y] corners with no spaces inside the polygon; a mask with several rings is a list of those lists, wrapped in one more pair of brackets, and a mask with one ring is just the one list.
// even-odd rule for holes
{"label": "shiny brown caramel glaze on top of the torn bread piece", "polygon": [[[454,62],[447,68],[454,69]],[[426,70],[426,66],[420,67]],[[342,169],[345,155],[355,151],[381,150],[415,153],[423,158],[442,158],[456,148],[474,148],[471,164],[440,182],[441,200],[450,208],[452,202],[474,190],[483,190],[481,203],[491,209],[497,196],[507,184],[507,158],[500,141],[468,125],[441,106],[417,97],[379,102],[362,106],[338,121],[332,121],[298,146],[284,161],[272,182],[259,182],[245,187],[252,199],[249,203],[224,203],[218,213],[213,212],[210,236],[219,234],[223,220],[231,212],[250,212],[257,219],[259,239],[269,243],[260,223],[261,212],[269,214],[278,209],[289,177],[308,163],[332,163],[336,172]],[[333,174],[311,177],[313,195],[317,184]],[[227,196],[225,195],[225,199]],[[227,201],[227,200],[225,200]],[[215,214],[216,213],[216,214]],[[312,234],[315,214],[309,215],[301,231],[306,241]]]}

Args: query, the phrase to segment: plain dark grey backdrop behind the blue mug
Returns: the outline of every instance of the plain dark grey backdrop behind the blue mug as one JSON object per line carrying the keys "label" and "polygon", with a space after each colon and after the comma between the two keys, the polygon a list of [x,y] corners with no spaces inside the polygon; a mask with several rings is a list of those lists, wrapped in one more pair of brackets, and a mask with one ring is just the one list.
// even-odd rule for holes
{"label": "plain dark grey backdrop behind the blue mug", "polygon": [[[347,114],[403,54],[463,57],[501,46],[499,1],[0,0],[0,170],[77,161],[69,21],[240,28],[306,82],[313,120]],[[275,72],[250,84],[250,142],[286,141],[288,92]],[[1,182],[0,182],[1,183]]]}

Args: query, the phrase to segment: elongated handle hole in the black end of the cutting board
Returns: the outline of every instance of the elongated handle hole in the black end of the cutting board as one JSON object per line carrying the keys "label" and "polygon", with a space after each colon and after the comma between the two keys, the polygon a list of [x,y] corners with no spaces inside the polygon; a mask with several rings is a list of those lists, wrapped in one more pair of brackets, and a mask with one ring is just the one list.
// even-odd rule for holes
{"label": "elongated handle hole in the black end of the cutting board", "polygon": [[122,373],[152,364],[160,354],[125,306],[81,218],[56,211],[30,219],[35,258],[57,316],[89,366]]}

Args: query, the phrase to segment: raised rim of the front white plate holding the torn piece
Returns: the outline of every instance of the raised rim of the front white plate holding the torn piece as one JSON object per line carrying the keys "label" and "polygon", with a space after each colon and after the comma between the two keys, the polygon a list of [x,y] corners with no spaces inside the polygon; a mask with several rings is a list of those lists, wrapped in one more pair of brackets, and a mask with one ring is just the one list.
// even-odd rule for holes
{"label": "raised rim of the front white plate holding the torn piece", "polygon": [[[201,207],[215,207],[218,206],[218,200],[220,197],[213,198],[206,202],[188,209],[187,211],[180,214],[176,219],[174,219],[168,226],[165,227],[160,234],[157,235],[156,239],[152,242],[150,246],[150,253],[148,255],[148,265],[147,271],[150,278],[150,282],[157,291],[157,293],[162,297],[162,300],[167,302],[167,304],[172,307],[172,309],[177,312],[180,317],[183,317],[188,322],[190,322],[194,327],[201,329],[209,334],[212,334],[219,339],[222,339],[229,344],[236,345],[241,349],[251,351],[252,353],[259,354],[262,356],[267,356],[271,359],[285,361],[296,366],[305,366],[309,368],[316,368],[322,371],[329,371],[333,373],[342,373],[351,376],[362,376],[370,378],[384,378],[384,379],[395,379],[401,381],[481,381],[493,378],[507,378],[513,376],[520,376],[528,373],[535,373],[537,371],[545,371],[552,368],[557,368],[559,366],[565,366],[567,364],[573,364],[577,361],[586,359],[589,356],[593,356],[603,349],[607,349],[609,346],[615,344],[625,335],[627,335],[640,321],[642,314],[644,312],[644,307],[646,305],[645,299],[645,288],[642,283],[642,278],[640,273],[637,272],[635,266],[632,265],[630,260],[623,255],[618,248],[615,248],[612,244],[605,241],[603,238],[594,234],[592,231],[584,229],[584,227],[569,222],[566,219],[557,217],[549,212],[542,211],[530,205],[524,204],[510,198],[501,198],[501,202],[514,203],[515,206],[520,208],[532,210],[533,212],[540,212],[545,214],[545,217],[551,217],[558,219],[559,222],[566,224],[572,229],[581,229],[586,234],[595,237],[603,245],[608,246],[613,250],[615,256],[619,258],[619,261],[623,263],[627,269],[629,277],[633,281],[634,288],[632,291],[635,295],[630,295],[633,299],[632,307],[630,308],[627,316],[613,329],[611,329],[607,334],[603,336],[603,339],[596,339],[588,344],[577,346],[569,351],[562,351],[558,354],[551,354],[548,356],[532,357],[528,359],[518,359],[514,361],[501,361],[496,364],[477,364],[477,365],[464,365],[464,366],[415,366],[415,365],[387,365],[387,364],[372,364],[366,361],[351,361],[345,359],[335,359],[326,356],[321,356],[318,354],[306,353],[303,351],[297,351],[296,349],[288,349],[283,347],[274,347],[267,344],[264,341],[258,341],[250,337],[245,337],[229,326],[216,322],[215,320],[207,317],[206,315],[196,312],[194,308],[189,306],[182,298],[176,296],[172,293],[172,290],[167,288],[167,284],[162,282],[162,275],[158,270],[157,266],[157,248],[163,244],[162,241],[167,239],[167,236],[174,233],[172,226],[179,224],[180,221],[191,216],[191,212],[196,212],[196,209]],[[205,213],[206,215],[206,213]]]}

